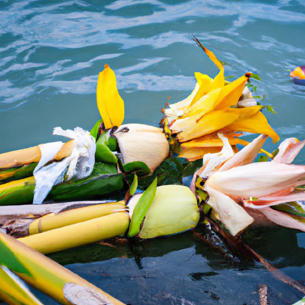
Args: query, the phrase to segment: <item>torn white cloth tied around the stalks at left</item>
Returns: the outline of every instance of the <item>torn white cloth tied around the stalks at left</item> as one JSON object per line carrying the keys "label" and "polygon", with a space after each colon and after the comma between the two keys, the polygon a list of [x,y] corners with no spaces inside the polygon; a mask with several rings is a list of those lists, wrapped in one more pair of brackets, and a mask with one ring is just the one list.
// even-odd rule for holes
{"label": "torn white cloth tied around the stalks at left", "polygon": [[89,131],[83,130],[80,127],[74,128],[74,131],[55,127],[53,135],[62,135],[74,139],[77,146],[74,147],[70,156],[67,156],[59,162],[52,162],[47,166],[44,165],[54,159],[56,153],[62,146],[59,145],[61,142],[54,142],[57,144],[48,143],[40,146],[41,160],[34,170],[34,178],[36,181],[33,199],[34,204],[41,204],[50,192],[52,186],[62,182],[63,172],[66,171],[67,167],[67,180],[73,177],[77,179],[85,178],[91,174],[94,167],[96,144]]}

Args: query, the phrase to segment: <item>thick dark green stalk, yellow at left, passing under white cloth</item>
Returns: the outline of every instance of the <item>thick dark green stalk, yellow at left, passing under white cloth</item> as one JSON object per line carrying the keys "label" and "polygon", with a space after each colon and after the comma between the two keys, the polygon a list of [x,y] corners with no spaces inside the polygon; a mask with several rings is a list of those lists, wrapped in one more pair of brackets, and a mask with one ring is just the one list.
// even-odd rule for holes
{"label": "thick dark green stalk, yellow at left, passing under white cloth", "polygon": [[[123,175],[115,164],[95,163],[92,173],[83,179],[55,185],[48,195],[54,201],[88,199],[123,188]],[[30,203],[35,189],[34,177],[0,185],[0,206]]]}

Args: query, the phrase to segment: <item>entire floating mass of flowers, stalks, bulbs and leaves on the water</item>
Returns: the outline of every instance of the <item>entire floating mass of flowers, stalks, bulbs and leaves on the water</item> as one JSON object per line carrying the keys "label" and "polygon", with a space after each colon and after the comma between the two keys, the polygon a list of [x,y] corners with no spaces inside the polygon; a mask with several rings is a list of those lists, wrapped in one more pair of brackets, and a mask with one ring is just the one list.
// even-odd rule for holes
{"label": "entire floating mass of flowers, stalks, bulbs and leaves on the water", "polygon": [[[305,232],[305,165],[291,164],[305,141],[288,138],[272,153],[264,150],[267,137],[280,138],[262,112],[272,107],[249,90],[249,79],[259,77],[246,73],[229,82],[213,52],[194,39],[219,73],[212,79],[196,72],[192,93],[161,109],[159,128],[123,124],[124,101],[105,64],[96,92],[102,118],[90,132],[55,127],[53,135],[70,140],[0,154],[6,303],[42,304],[26,282],[62,304],[123,304],[44,254],[115,236],[168,236],[199,223],[305,294],[241,239],[249,225],[264,221]],[[305,79],[303,68],[291,76]],[[243,132],[260,135],[246,142]],[[188,172],[188,186],[170,183],[170,164]]]}

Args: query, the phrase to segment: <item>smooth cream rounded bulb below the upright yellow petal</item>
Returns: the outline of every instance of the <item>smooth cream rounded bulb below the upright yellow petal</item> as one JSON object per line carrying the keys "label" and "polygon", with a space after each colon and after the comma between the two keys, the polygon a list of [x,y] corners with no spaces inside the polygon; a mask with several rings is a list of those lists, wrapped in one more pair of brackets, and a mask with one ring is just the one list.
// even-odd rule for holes
{"label": "smooth cream rounded bulb below the upright yellow petal", "polygon": [[123,164],[144,162],[151,172],[168,156],[169,144],[160,128],[144,124],[124,124],[114,132]]}

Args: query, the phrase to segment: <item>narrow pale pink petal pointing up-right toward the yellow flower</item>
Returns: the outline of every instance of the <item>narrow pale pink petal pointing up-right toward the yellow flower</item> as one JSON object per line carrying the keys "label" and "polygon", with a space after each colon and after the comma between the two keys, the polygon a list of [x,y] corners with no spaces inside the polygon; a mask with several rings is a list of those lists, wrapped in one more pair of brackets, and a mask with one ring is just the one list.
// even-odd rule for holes
{"label": "narrow pale pink petal pointing up-right toward the yellow flower", "polygon": [[230,160],[224,163],[224,165],[218,170],[218,172],[252,163],[256,158],[258,152],[262,148],[266,138],[267,135],[259,135],[251,143],[249,143],[247,146],[237,152]]}

